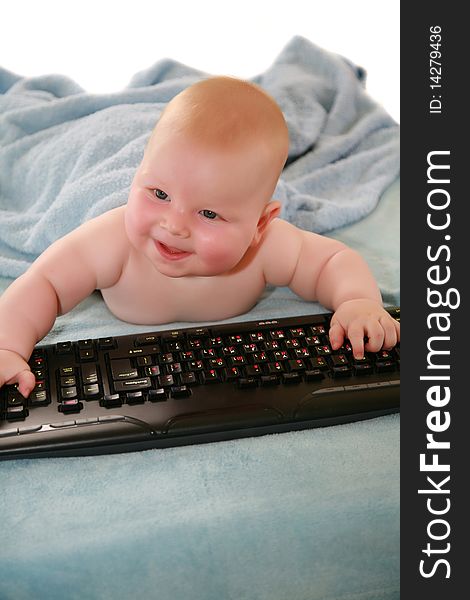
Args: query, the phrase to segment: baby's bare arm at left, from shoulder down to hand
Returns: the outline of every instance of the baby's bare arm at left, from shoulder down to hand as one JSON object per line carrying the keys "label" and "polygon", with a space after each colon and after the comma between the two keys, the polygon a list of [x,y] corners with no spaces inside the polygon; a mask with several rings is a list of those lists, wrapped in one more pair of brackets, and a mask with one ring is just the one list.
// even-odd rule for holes
{"label": "baby's bare arm at left, from shoulder down to hand", "polygon": [[124,238],[119,213],[110,211],[52,244],[0,297],[0,387],[18,383],[23,396],[35,385],[27,364],[35,344],[58,315],[121,274]]}

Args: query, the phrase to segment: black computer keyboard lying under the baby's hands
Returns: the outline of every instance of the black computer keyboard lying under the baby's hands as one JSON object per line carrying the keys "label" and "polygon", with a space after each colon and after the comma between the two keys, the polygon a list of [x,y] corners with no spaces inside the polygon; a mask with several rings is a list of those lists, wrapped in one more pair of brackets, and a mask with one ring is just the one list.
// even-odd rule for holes
{"label": "black computer keyboard lying under the baby's hands", "polygon": [[398,412],[399,346],[363,360],[347,342],[333,352],[330,317],[39,345],[29,398],[0,390],[0,458],[164,448]]}

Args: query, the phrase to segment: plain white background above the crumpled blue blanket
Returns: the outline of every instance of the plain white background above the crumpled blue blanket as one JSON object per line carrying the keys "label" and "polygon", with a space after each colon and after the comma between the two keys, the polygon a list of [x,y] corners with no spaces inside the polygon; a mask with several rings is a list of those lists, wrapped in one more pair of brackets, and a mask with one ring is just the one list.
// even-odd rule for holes
{"label": "plain white background above the crumpled blue blanket", "polygon": [[370,95],[400,119],[399,0],[2,4],[0,65],[20,75],[62,73],[87,91],[113,92],[169,57],[211,74],[249,78],[302,35],[364,67]]}

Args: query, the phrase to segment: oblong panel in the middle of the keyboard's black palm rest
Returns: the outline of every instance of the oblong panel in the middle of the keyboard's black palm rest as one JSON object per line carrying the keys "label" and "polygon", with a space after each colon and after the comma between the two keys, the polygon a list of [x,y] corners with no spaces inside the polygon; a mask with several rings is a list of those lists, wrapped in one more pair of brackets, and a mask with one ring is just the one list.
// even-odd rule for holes
{"label": "oblong panel in the middle of the keyboard's black palm rest", "polygon": [[163,432],[168,435],[188,435],[210,431],[249,429],[250,427],[272,425],[281,420],[281,413],[273,408],[247,405],[178,415],[166,423]]}

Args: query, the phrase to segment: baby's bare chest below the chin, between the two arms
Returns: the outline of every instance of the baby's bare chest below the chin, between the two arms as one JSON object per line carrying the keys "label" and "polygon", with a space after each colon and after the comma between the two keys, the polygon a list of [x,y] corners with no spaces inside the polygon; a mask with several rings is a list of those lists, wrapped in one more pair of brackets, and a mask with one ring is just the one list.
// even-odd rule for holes
{"label": "baby's bare chest below the chin, between the two arms", "polygon": [[136,324],[217,321],[247,312],[265,287],[256,264],[230,275],[170,278],[152,265],[130,265],[116,285],[102,290],[119,319]]}

